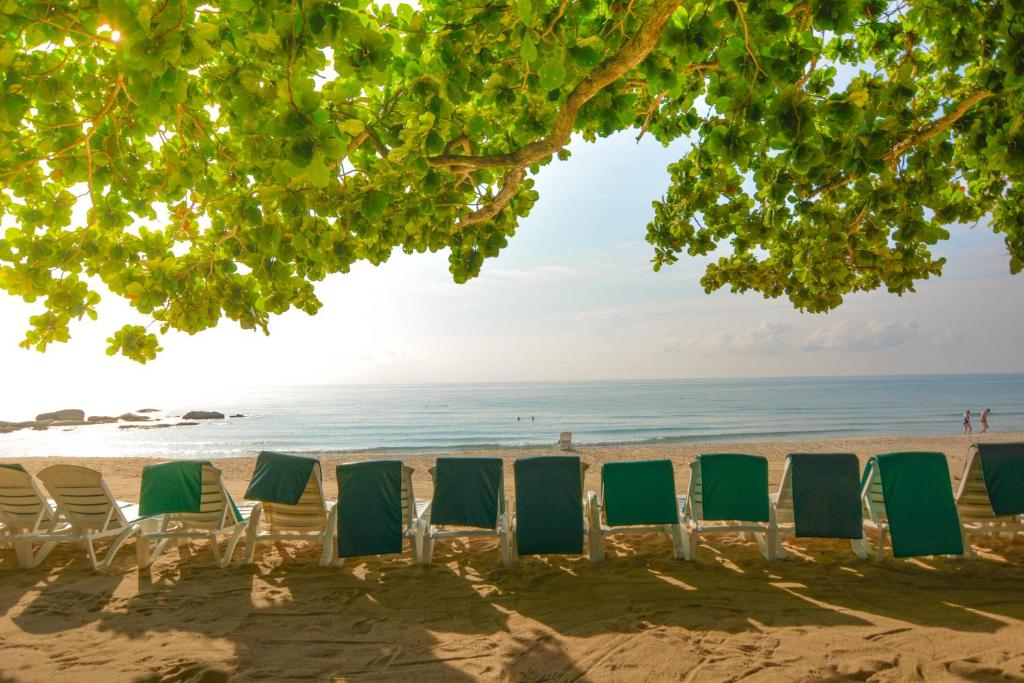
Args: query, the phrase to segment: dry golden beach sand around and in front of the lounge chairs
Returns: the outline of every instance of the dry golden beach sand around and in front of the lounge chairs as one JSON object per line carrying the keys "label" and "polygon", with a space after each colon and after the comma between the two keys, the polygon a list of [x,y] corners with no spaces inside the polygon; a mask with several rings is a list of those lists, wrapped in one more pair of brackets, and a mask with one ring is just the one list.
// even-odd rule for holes
{"label": "dry golden beach sand around and in front of the lounge chairs", "polygon": [[[700,452],[760,453],[773,483],[784,455],[943,451],[954,480],[973,440],[1024,434],[867,437],[581,450],[601,462]],[[502,452],[509,466],[527,451]],[[380,457],[375,455],[374,457]],[[334,465],[324,458],[329,496]],[[428,498],[428,456],[407,456]],[[57,459],[24,459],[38,471]],[[136,500],[144,459],[74,459]],[[241,496],[253,459],[217,461]],[[511,481],[511,470],[507,479]],[[318,548],[261,549],[254,566],[171,551],[139,575],[132,548],[109,570],[58,549],[20,570],[0,550],[0,681],[57,680],[1022,680],[1024,536],[978,542],[984,559],[861,561],[842,542],[784,539],[766,565],[755,544],[701,540],[672,559],[660,535],[612,537],[608,561],[526,557],[497,543],[438,543],[433,566],[404,555],[316,565]]]}

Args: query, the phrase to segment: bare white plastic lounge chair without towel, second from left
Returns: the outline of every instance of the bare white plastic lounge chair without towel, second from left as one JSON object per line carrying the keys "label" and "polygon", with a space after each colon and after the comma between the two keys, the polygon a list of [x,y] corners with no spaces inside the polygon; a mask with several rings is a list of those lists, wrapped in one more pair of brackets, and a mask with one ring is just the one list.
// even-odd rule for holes
{"label": "bare white plastic lounge chair without towel, second from left", "polygon": [[93,569],[106,566],[116,549],[112,545],[99,559],[95,542],[120,537],[138,519],[138,506],[116,500],[103,475],[88,467],[50,465],[37,476],[56,502],[56,516],[62,523],[62,528],[37,540],[84,545]]}

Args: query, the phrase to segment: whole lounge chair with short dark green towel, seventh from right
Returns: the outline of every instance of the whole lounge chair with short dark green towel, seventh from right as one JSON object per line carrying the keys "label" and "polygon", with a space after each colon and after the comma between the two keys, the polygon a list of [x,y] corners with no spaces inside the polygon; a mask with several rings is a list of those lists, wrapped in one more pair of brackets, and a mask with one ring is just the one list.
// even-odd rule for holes
{"label": "whole lounge chair with short dark green towel, seventh from right", "polygon": [[[429,564],[436,539],[497,537],[502,564],[512,562],[501,458],[438,458],[434,498],[420,513],[420,561]],[[459,528],[451,528],[459,527]]]}

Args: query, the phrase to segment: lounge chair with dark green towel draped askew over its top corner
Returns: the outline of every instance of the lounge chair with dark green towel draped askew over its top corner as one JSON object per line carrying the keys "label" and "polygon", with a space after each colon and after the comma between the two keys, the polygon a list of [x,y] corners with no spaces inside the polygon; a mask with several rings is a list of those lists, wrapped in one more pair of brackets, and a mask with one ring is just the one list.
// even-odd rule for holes
{"label": "lounge chair with dark green towel draped askew over its top corner", "polygon": [[[328,504],[324,475],[315,458],[260,453],[245,498],[258,502],[249,515],[243,564],[253,561],[260,542],[311,541],[327,545],[331,536]],[[261,531],[264,518],[267,529]]]}

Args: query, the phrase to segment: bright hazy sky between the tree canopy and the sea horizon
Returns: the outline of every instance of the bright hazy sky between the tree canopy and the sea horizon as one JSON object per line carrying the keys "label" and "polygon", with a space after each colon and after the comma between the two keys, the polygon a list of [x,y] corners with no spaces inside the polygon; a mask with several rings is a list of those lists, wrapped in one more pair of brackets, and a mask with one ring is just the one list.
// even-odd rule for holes
{"label": "bright hazy sky between the tree canopy and the sea horizon", "polygon": [[634,136],[575,140],[543,168],[531,215],[478,279],[453,283],[443,252],[396,253],[321,283],[322,310],[273,318],[269,337],[225,321],[164,336],[139,366],[104,353],[139,321],[106,296],[97,323],[39,353],[17,347],[38,306],[0,293],[0,419],[247,386],[1024,372],[1024,276],[984,225],[951,228],[943,276],[916,294],[858,294],[827,314],[708,295],[703,259],[653,272],[650,203],[686,142]]}

